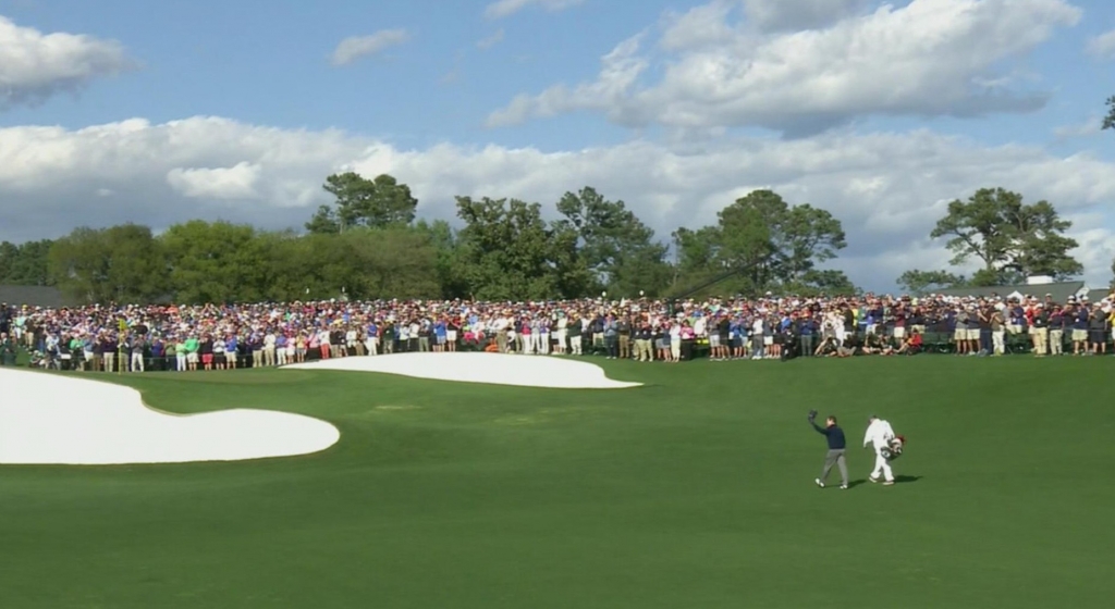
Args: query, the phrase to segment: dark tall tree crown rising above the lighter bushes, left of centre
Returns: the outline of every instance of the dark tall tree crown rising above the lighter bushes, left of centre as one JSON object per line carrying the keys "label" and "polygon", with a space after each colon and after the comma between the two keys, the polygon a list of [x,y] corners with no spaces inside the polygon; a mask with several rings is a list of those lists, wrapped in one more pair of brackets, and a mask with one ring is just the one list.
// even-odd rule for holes
{"label": "dark tall tree crown rising above the lighter bushes, left of centre", "polygon": [[333,207],[322,205],[306,224],[311,233],[343,233],[358,226],[385,228],[410,224],[415,219],[418,199],[410,187],[389,175],[367,179],[348,171],[333,174],[322,186],[334,197]]}

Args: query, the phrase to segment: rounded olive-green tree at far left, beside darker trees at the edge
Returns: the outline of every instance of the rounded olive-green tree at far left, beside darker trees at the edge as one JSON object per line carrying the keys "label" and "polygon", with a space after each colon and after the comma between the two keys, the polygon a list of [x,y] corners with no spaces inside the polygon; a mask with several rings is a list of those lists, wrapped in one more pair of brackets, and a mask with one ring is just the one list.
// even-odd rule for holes
{"label": "rounded olive-green tree at far left, beside darker trees at the edge", "polygon": [[166,291],[162,246],[135,224],[75,229],[50,247],[48,268],[65,295],[84,303],[147,303]]}

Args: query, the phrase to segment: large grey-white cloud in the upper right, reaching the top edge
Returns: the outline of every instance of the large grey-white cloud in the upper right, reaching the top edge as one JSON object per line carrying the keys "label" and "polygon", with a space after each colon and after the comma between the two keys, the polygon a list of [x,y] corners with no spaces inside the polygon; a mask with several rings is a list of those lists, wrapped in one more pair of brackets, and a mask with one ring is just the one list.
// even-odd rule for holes
{"label": "large grey-white cloud in the upper right, reaching the top edge", "polygon": [[[807,135],[870,115],[1032,111],[1047,95],[1012,88],[1009,62],[1080,16],[1065,0],[913,0],[824,29],[762,33],[731,22],[731,12],[717,0],[675,16],[660,40],[663,59],[624,41],[595,80],[521,95],[487,122],[590,110],[630,127]],[[656,62],[661,78],[643,84]]]}

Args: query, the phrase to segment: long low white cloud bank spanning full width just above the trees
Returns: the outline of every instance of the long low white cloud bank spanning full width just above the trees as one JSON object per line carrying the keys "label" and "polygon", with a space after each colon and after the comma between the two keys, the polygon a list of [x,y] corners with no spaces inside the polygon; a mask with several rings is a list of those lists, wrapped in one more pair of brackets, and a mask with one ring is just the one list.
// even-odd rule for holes
{"label": "long low white cloud bank spanning full width just above the trees", "polygon": [[[155,229],[191,218],[301,227],[328,202],[324,176],[389,173],[409,184],[419,215],[454,220],[454,195],[536,200],[553,214],[562,193],[592,185],[624,199],[662,238],[699,227],[752,188],[830,209],[849,233],[837,265],[890,287],[904,268],[948,259],[925,239],[948,200],[1004,186],[1087,218],[1074,235],[1088,276],[1106,282],[1115,237],[1115,164],[1038,147],[985,147],[929,131],[809,139],[727,137],[686,149],[647,140],[543,153],[448,144],[400,149],[341,131],[284,130],[195,117],[78,130],[0,129],[0,239],[54,237],[76,226],[137,222]],[[90,194],[112,190],[90,205]],[[1082,216],[1083,214],[1083,216]],[[1087,214],[1098,215],[1094,219]],[[454,220],[455,222],[455,220]]]}

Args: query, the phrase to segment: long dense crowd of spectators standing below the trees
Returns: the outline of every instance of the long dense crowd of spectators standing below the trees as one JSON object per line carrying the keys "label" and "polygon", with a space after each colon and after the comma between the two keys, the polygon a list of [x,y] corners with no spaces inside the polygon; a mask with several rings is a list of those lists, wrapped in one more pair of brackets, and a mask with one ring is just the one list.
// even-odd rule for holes
{"label": "long dense crowd of spectators standing below the trees", "polygon": [[307,302],[204,306],[0,306],[0,364],[143,372],[476,350],[677,363],[925,351],[1097,355],[1115,297],[857,297]]}

